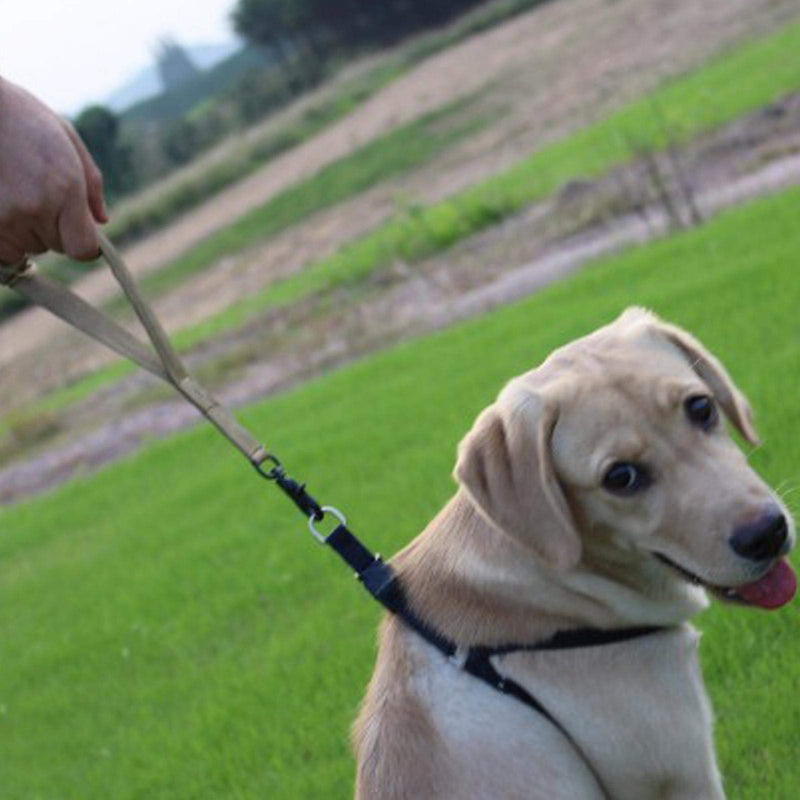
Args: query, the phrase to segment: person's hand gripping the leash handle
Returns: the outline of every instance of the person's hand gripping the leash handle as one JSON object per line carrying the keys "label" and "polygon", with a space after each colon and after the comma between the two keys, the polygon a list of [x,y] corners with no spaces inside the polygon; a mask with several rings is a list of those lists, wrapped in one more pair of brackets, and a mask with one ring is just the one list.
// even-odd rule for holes
{"label": "person's hand gripping the leash handle", "polygon": [[72,125],[0,78],[0,263],[57,250],[97,258],[103,178]]}

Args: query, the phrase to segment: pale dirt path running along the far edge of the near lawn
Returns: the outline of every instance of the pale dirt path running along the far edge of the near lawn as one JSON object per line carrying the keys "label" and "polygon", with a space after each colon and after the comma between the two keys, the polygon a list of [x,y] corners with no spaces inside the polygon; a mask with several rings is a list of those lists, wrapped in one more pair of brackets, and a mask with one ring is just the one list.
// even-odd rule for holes
{"label": "pale dirt path running along the far edge of the near lawn", "polygon": [[[713,172],[713,169],[712,169]],[[611,179],[608,179],[611,180]],[[709,186],[696,195],[701,213],[708,217],[721,209],[767,192],[800,184],[800,152],[778,159],[752,174]],[[595,186],[602,190],[602,186]],[[401,337],[420,335],[446,327],[510,303],[580,269],[587,262],[617,252],[631,244],[663,235],[670,220],[663,207],[651,205],[636,213],[594,225],[551,245],[537,244],[532,228],[557,214],[559,200],[532,207],[525,214],[463,242],[447,258],[431,259],[419,270],[390,276],[385,285],[374,285],[357,305],[329,303],[326,311],[307,301],[288,314],[303,324],[293,327],[287,343],[282,333],[292,328],[286,314],[266,324],[275,338],[269,362],[257,362],[219,392],[231,407],[253,402],[278,389],[306,379],[324,368],[345,363]],[[515,250],[516,248],[516,250]],[[508,269],[514,253],[519,266]],[[477,269],[475,266],[477,265]],[[317,298],[318,301],[318,298]],[[332,309],[332,310],[331,310]],[[265,323],[253,323],[228,342],[234,347],[272,351]],[[276,330],[278,336],[276,337]],[[212,345],[219,355],[225,342]],[[195,357],[194,359],[198,359]],[[202,360],[202,359],[201,359]],[[128,380],[141,390],[153,379],[138,373]],[[116,398],[115,398],[116,395]],[[199,421],[199,415],[180,400],[155,400],[138,410],[126,410],[125,391],[110,387],[70,419],[69,425],[85,426],[102,412],[113,417],[74,441],[50,446],[38,456],[0,471],[0,504],[8,504],[46,491],[76,474],[91,472],[117,460],[153,436],[164,436]]]}

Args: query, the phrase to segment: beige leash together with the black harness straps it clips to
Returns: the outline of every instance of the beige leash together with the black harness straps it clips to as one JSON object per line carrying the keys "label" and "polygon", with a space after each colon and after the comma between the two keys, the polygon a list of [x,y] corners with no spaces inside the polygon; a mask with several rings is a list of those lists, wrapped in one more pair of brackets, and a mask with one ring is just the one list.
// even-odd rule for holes
{"label": "beige leash together with the black harness straps it clips to", "polygon": [[[569,731],[523,686],[503,676],[492,663],[492,659],[520,651],[535,652],[613,644],[656,633],[663,628],[657,626],[618,630],[582,628],[560,631],[549,639],[535,644],[514,643],[500,647],[474,646],[466,649],[458,647],[455,642],[431,628],[414,613],[391,566],[379,555],[372,553],[349,530],[344,514],[334,506],[320,505],[306,491],[305,484],[290,478],[277,456],[268,451],[237,422],[225,406],[189,374],[158,318],[139,291],[122,256],[100,231],[98,238],[100,252],[142,323],[152,347],[137,339],[63,284],[43,275],[28,258],[16,264],[0,264],[0,285],[8,286],[32,303],[47,309],[68,325],[172,386],[247,458],[259,475],[274,482],[289,497],[308,520],[314,538],[337,553],[378,603],[436,647],[455,667],[483,681],[496,691],[516,698],[547,719],[577,752],[597,781],[602,795],[610,798],[591,761]],[[318,530],[317,523],[327,515],[333,516],[337,524],[333,531],[326,535]]]}

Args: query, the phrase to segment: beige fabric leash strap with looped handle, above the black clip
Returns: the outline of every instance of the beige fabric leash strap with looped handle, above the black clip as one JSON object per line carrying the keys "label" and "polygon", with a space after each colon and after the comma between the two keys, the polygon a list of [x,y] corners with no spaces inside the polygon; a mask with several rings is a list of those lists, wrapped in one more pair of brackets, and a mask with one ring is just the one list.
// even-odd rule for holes
{"label": "beige fabric leash strap with looped handle, above the black clip", "polygon": [[104,234],[98,231],[98,236],[100,251],[133,306],[153,349],[66,286],[41,274],[27,258],[16,264],[0,265],[0,284],[5,284],[31,302],[46,308],[69,325],[169,383],[247,456],[254,466],[258,467],[266,460],[274,461],[264,446],[236,421],[231,412],[186,371],[161,323],[139,291],[122,256]]}

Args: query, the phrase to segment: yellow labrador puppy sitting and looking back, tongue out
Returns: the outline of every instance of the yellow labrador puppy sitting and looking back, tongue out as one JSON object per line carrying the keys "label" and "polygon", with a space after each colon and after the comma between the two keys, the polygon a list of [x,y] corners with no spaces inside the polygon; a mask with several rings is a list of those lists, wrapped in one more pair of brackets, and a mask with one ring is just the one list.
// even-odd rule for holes
{"label": "yellow labrador puppy sitting and looking back, tongue out", "polygon": [[717,359],[636,308],[503,389],[390,562],[357,797],[724,796],[687,620],[787,603],[795,533],[723,415],[756,441]]}

